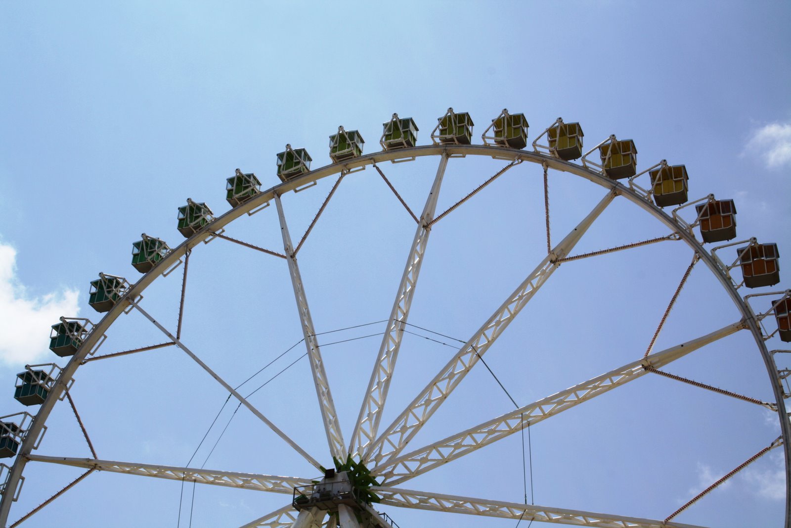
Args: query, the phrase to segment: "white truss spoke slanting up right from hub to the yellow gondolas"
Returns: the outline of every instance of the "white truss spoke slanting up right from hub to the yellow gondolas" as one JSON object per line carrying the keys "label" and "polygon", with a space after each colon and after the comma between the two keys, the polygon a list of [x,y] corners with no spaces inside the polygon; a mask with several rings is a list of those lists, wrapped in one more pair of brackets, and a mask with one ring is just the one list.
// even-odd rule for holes
{"label": "white truss spoke slanting up right from hub to the yellow gondolas", "polygon": [[470,340],[440,370],[431,382],[418,394],[398,418],[390,424],[380,437],[370,444],[365,460],[373,460],[379,465],[384,458],[395,458],[407,443],[418,433],[423,424],[442,405],[442,402],[459,385],[478,359],[494,344],[498,336],[513,321],[514,317],[527,305],[536,291],[558,268],[556,260],[569,254],[593,221],[615,198],[615,192],[608,192],[596,207],[575,227],[570,234],[554,247],[549,255],[528,275],[505,302],[495,311]]}

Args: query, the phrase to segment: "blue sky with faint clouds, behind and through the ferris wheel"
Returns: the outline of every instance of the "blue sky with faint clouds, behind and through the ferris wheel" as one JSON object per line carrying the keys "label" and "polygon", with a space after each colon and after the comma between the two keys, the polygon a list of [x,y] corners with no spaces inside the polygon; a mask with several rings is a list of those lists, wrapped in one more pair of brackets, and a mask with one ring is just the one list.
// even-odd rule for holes
{"label": "blue sky with faint clouds, behind and through the ferris wheel", "polygon": [[[777,242],[785,257],[789,22],[787,2],[2,2],[0,379],[8,397],[0,414],[23,410],[11,388],[25,363],[56,359],[46,347],[57,317],[99,320],[87,304],[98,272],[134,282],[131,244],[143,232],[181,243],[176,208],[187,197],[206,201],[215,214],[227,211],[225,178],[237,167],[271,187],[275,154],[286,143],[305,147],[314,168],[326,165],[327,136],[339,125],[358,129],[365,152],[375,152],[392,112],[414,118],[421,145],[451,106],[470,112],[475,142],[502,108],[524,112],[531,141],[558,116],[580,122],[588,146],[612,133],[634,139],[638,170],[665,158],[687,165],[691,199],[710,192],[735,199],[737,240]],[[436,164],[418,159],[382,169],[419,211]],[[541,174],[524,165],[437,224],[442,230],[430,241],[410,318],[415,325],[466,340],[542,258]],[[452,160],[438,211],[501,166]],[[329,180],[284,196],[292,237],[312,220]],[[550,188],[559,240],[602,191],[555,173]],[[666,234],[645,217],[615,203],[581,241],[580,253]],[[318,332],[388,317],[414,234],[409,222],[372,169],[344,180],[301,253]],[[274,207],[234,222],[229,234],[282,248]],[[520,405],[642,355],[691,259],[677,245],[558,270],[487,356]],[[190,262],[185,336],[232,384],[301,338],[285,263],[251,253],[214,241]],[[732,258],[733,249],[723,253]],[[784,262],[778,290],[789,287]],[[179,291],[180,271],[158,279],[146,291],[146,310],[175,324]],[[710,273],[695,268],[657,347],[736,321],[727,302]],[[380,326],[339,332],[338,340],[381,332]],[[766,369],[748,338],[732,336],[668,370],[769,398]],[[131,313],[113,325],[102,351],[162,340]],[[373,337],[324,348],[346,435],[378,346]],[[772,341],[770,348],[782,345]],[[304,348],[290,353],[297,351]],[[417,336],[405,340],[384,421],[448,351]],[[74,399],[100,458],[184,465],[226,394],[176,348],[146,354],[81,367]],[[261,382],[290,357],[298,355],[284,356]],[[479,368],[457,392],[416,443],[511,408]],[[313,456],[328,456],[305,360],[256,397]],[[754,407],[646,376],[535,427],[536,503],[664,519],[778,435],[770,413]],[[223,420],[230,417],[225,412]],[[237,414],[207,468],[315,476],[248,412]],[[66,405],[56,406],[48,424],[40,454],[89,456]],[[218,434],[212,430],[211,438]],[[502,444],[405,487],[520,502],[519,439]],[[201,453],[200,462],[208,451]],[[749,517],[753,526],[779,526],[785,490],[778,487],[777,455],[766,455],[677,520],[745,526]],[[78,471],[28,465],[9,520]],[[199,487],[192,526],[238,526],[287,500],[233,491]],[[179,492],[172,482],[94,474],[31,523],[175,526]],[[387,511],[400,526],[448,522],[422,511]],[[460,515],[451,522],[515,524]]]}

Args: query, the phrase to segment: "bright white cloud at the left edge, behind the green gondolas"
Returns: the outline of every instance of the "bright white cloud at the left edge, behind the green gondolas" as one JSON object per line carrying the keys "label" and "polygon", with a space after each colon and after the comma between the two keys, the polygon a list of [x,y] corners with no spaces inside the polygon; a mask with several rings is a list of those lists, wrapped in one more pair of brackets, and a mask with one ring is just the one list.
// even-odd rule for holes
{"label": "bright white cloud at the left edge, behind the green gondolas", "polygon": [[49,329],[59,317],[78,315],[76,290],[31,298],[17,279],[17,250],[0,243],[0,363],[23,366],[48,362]]}

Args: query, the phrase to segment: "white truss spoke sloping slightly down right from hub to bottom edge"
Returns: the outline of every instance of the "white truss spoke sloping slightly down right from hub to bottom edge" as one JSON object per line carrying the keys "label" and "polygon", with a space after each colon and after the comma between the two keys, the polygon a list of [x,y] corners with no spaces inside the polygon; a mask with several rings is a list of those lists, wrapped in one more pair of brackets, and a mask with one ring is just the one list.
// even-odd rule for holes
{"label": "white truss spoke sloping slightly down right from hub to bottom edge", "polygon": [[418,510],[445,511],[467,515],[483,515],[500,519],[524,519],[554,522],[572,526],[596,528],[702,528],[676,522],[639,519],[623,515],[607,515],[592,511],[567,510],[531,504],[509,503],[500,500],[473,499],[439,493],[416,492],[411,489],[373,487],[372,492],[381,497],[387,506],[416,508]]}

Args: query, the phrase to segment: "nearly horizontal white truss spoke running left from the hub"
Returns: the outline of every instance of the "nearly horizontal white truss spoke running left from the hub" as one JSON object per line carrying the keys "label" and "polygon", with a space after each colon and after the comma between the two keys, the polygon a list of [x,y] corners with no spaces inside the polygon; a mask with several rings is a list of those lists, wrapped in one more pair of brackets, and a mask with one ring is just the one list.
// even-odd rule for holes
{"label": "nearly horizontal white truss spoke running left from the hub", "polygon": [[198,484],[225,486],[225,488],[255,489],[259,492],[284,493],[286,495],[293,493],[294,486],[308,486],[311,484],[311,479],[309,478],[182,468],[173,465],[135,464],[133,462],[97,460],[95,458],[45,457],[38,454],[29,454],[27,458],[32,462],[50,462],[52,464],[73,465],[78,468],[110,471],[112,473],[164,478],[170,481],[197,482]]}

